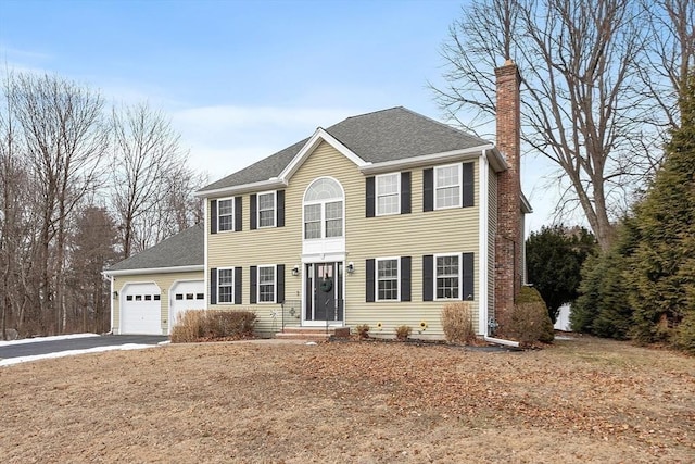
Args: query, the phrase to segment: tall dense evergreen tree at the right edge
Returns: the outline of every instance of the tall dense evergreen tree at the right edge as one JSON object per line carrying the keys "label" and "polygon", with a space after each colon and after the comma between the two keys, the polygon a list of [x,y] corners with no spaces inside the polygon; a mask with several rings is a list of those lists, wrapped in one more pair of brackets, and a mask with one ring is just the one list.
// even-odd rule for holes
{"label": "tall dense evergreen tree at the right edge", "polygon": [[[634,291],[637,341],[688,344],[682,331],[695,317],[695,74],[683,92],[681,126],[667,145],[662,167],[636,208],[641,242],[627,274]],[[688,323],[674,334],[684,318]],[[695,330],[691,331],[695,341]]]}

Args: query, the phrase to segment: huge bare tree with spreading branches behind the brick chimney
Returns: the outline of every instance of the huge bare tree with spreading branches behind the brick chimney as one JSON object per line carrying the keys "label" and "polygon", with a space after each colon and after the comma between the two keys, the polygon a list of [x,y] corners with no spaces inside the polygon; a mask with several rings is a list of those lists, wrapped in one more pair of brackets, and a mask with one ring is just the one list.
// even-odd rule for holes
{"label": "huge bare tree with spreading branches behind the brick chimney", "polygon": [[611,241],[611,218],[661,151],[662,115],[640,79],[648,67],[648,20],[630,0],[475,1],[442,49],[447,85],[433,88],[451,118],[467,118],[478,131],[495,113],[494,67],[515,61],[523,150],[555,163],[564,189],[558,209],[581,208],[602,248]]}

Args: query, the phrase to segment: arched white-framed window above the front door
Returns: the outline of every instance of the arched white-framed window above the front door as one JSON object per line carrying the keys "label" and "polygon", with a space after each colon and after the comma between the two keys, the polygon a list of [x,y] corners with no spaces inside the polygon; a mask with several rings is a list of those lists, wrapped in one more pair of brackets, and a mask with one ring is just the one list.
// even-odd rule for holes
{"label": "arched white-framed window above the front door", "polygon": [[343,189],[338,181],[321,177],[304,193],[304,239],[343,236]]}

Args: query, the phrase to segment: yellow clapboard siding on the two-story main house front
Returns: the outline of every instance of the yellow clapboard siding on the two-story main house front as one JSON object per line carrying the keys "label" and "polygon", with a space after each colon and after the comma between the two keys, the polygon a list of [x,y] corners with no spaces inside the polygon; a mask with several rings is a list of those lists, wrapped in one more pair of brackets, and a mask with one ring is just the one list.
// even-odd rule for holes
{"label": "yellow clapboard siding on the two-story main house front", "polygon": [[[448,164],[448,163],[447,163]],[[479,269],[479,176],[476,161],[475,206],[422,212],[422,168],[412,172],[412,213],[392,216],[365,217],[365,176],[357,166],[330,145],[323,142],[304,161],[286,189],[285,227],[249,230],[249,195],[243,196],[243,230],[208,235],[208,267],[243,268],[243,300],[241,305],[212,308],[249,309],[256,313],[261,333],[277,331],[279,304],[249,304],[249,266],[286,265],[286,299],[302,298],[302,277],[292,276],[294,265],[302,263],[302,200],[309,184],[318,177],[330,176],[345,192],[345,262],[354,262],[355,272],[345,276],[345,325],[383,325],[384,335],[393,335],[395,327],[406,324],[414,335],[421,321],[428,328],[420,337],[442,337],[440,311],[444,301],[422,302],[422,255],[473,252],[475,273]],[[210,208],[210,202],[207,208]],[[386,256],[412,256],[412,302],[365,303],[365,260]],[[479,278],[475,292],[479,294]],[[477,308],[477,301],[472,302]],[[477,311],[476,311],[477,316]],[[475,322],[477,327],[477,321]],[[374,329],[372,329],[374,330]]]}

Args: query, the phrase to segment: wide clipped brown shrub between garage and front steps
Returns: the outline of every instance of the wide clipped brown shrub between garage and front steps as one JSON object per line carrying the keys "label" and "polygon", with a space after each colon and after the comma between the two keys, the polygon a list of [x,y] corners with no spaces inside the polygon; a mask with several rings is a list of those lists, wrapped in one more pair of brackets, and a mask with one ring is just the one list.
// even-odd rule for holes
{"label": "wide clipped brown shrub between garage and front steps", "polygon": [[250,311],[187,311],[172,328],[172,342],[251,338],[255,319],[256,315]]}

